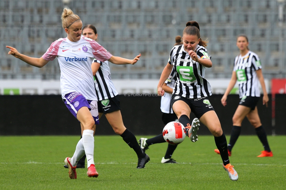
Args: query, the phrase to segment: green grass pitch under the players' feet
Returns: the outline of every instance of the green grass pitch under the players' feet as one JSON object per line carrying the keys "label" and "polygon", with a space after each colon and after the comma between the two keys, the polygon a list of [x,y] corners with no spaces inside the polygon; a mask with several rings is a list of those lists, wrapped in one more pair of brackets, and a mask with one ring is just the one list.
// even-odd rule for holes
{"label": "green grass pitch under the players' feet", "polygon": [[[141,136],[137,136],[139,139]],[[150,138],[150,136],[147,136]],[[0,189],[285,189],[286,136],[268,136],[273,157],[257,158],[263,150],[257,136],[240,136],[230,162],[238,172],[231,181],[214,153],[213,136],[186,138],[172,158],[161,164],[167,143],[146,151],[151,160],[136,169],[137,156],[120,136],[95,136],[98,178],[87,168],[69,179],[64,159],[71,157],[79,136],[0,136]],[[229,140],[229,136],[227,137]]]}

